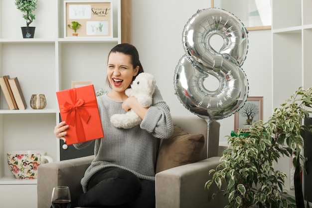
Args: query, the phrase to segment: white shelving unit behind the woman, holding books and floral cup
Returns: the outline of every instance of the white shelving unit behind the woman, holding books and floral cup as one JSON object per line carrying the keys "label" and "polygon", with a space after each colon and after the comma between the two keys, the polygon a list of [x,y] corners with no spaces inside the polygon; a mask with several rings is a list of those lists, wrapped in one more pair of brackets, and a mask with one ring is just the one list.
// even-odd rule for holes
{"label": "white shelving unit behind the woman, holding books and floral cup", "polygon": [[[8,110],[0,90],[0,191],[2,205],[21,207],[9,200],[9,192],[18,187],[19,201],[36,204],[37,180],[15,179],[10,173],[6,153],[14,150],[43,150],[59,160],[59,141],[53,134],[59,122],[56,91],[71,88],[72,81],[92,81],[95,89],[107,87],[106,63],[112,47],[121,43],[121,0],[112,0],[112,37],[64,37],[63,0],[38,1],[34,38],[22,38],[20,26],[25,22],[14,1],[0,0],[0,76],[18,77],[25,110]],[[8,17],[9,18],[6,18]],[[29,105],[32,94],[44,94],[46,108]],[[18,185],[18,186],[11,186]],[[28,193],[29,192],[29,193]],[[28,204],[27,204],[28,205]],[[32,206],[35,207],[35,206]]]}

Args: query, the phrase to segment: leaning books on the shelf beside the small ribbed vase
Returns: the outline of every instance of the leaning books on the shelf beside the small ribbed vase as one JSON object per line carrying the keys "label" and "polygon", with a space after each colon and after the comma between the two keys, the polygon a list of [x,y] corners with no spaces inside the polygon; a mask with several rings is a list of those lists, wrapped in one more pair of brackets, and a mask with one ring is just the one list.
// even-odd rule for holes
{"label": "leaning books on the shelf beside the small ribbed vase", "polygon": [[0,88],[10,110],[26,109],[27,105],[17,77],[10,78],[9,75],[0,77]]}

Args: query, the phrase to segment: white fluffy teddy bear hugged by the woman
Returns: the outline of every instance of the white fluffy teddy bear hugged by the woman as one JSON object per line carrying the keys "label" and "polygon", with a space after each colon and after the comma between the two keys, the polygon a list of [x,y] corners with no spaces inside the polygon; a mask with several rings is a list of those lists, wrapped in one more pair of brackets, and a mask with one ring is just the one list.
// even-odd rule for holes
{"label": "white fluffy teddy bear hugged by the woman", "polygon": [[[144,107],[153,104],[153,93],[156,88],[156,79],[152,74],[142,72],[131,83],[131,88],[126,89],[128,97],[135,96]],[[133,110],[125,114],[115,114],[111,117],[112,124],[117,128],[130,129],[141,124],[142,119]]]}

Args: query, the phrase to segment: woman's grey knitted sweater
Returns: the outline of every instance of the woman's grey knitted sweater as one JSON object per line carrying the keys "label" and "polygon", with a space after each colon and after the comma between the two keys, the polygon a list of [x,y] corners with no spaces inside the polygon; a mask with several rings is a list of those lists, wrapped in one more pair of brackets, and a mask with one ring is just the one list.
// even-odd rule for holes
{"label": "woman's grey knitted sweater", "polygon": [[[104,138],[95,140],[95,159],[81,180],[86,192],[90,178],[99,170],[115,166],[134,173],[141,179],[155,180],[156,156],[159,139],[169,138],[173,125],[169,107],[163,101],[159,89],[153,94],[153,106],[147,111],[141,125],[131,129],[114,127],[110,117],[126,113],[122,102],[116,102],[107,95],[97,97]],[[74,144],[77,149],[89,146],[93,141]]]}

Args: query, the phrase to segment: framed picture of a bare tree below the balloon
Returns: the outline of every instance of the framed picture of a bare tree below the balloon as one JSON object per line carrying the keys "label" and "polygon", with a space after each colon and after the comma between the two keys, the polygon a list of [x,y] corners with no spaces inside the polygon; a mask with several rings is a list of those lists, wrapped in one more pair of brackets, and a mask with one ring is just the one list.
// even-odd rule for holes
{"label": "framed picture of a bare tree below the balloon", "polygon": [[248,97],[244,106],[234,114],[234,131],[248,130],[259,120],[263,121],[263,97]]}

